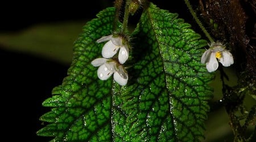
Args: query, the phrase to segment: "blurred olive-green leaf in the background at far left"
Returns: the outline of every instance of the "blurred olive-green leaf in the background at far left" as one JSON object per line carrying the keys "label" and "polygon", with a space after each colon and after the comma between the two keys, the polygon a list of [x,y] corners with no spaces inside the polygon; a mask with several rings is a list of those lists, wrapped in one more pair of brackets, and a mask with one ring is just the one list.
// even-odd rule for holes
{"label": "blurred olive-green leaf in the background at far left", "polygon": [[81,33],[84,22],[41,23],[18,32],[0,32],[1,48],[68,65],[72,61],[73,41]]}

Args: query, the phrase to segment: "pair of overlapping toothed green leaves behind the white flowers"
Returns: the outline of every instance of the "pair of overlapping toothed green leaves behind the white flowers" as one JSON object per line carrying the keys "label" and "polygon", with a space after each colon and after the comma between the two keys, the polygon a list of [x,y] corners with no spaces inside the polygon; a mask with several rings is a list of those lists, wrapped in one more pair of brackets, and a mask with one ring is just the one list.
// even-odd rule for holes
{"label": "pair of overlapping toothed green leaves behind the white flowers", "polygon": [[132,34],[129,80],[101,81],[90,62],[101,57],[102,36],[112,34],[115,9],[88,22],[73,48],[63,84],[43,106],[52,107],[38,131],[53,141],[199,141],[209,110],[212,76],[200,63],[200,40],[177,14],[152,3]]}

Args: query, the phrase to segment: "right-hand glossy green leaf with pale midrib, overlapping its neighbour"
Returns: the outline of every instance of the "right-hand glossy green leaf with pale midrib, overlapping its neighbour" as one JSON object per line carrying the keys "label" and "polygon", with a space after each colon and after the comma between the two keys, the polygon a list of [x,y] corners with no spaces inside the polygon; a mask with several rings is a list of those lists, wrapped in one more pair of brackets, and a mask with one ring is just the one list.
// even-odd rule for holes
{"label": "right-hand glossy green leaf with pale midrib, overlapping its neighbour", "polygon": [[135,64],[121,93],[130,139],[200,141],[212,98],[212,75],[200,63],[207,42],[177,14],[152,3],[133,36]]}

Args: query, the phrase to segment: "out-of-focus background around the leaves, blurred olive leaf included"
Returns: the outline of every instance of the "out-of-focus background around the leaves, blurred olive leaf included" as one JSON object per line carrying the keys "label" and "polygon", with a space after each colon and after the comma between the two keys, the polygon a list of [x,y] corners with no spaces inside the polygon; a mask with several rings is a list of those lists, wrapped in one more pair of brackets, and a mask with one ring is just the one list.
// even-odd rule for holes
{"label": "out-of-focus background around the leaves, blurred olive leaf included", "polygon": [[[96,14],[113,6],[114,0],[95,1],[20,1],[1,2],[0,58],[2,76],[2,130],[6,139],[49,141],[36,136],[43,127],[39,117],[50,108],[42,102],[51,97],[51,90],[67,76],[72,61],[73,42],[82,26]],[[191,23],[201,33],[183,1],[152,1],[161,9],[177,12],[179,18]],[[136,15],[131,22],[136,22]],[[206,38],[205,38],[206,39]],[[236,85],[236,74],[228,71]],[[220,77],[213,86],[221,90]],[[218,89],[216,89],[218,90]],[[214,99],[221,99],[221,91]],[[250,98],[249,98],[250,99]],[[254,102],[253,102],[254,103]],[[209,114],[206,141],[232,141],[232,130],[225,110]]]}

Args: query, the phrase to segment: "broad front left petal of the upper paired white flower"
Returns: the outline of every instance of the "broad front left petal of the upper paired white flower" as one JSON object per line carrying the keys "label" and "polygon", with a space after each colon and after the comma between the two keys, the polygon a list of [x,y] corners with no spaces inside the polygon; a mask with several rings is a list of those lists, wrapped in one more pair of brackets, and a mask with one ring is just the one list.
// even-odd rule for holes
{"label": "broad front left petal of the upper paired white flower", "polygon": [[102,48],[101,54],[104,58],[109,59],[117,53],[118,49],[119,47],[113,44],[111,40],[109,40]]}

